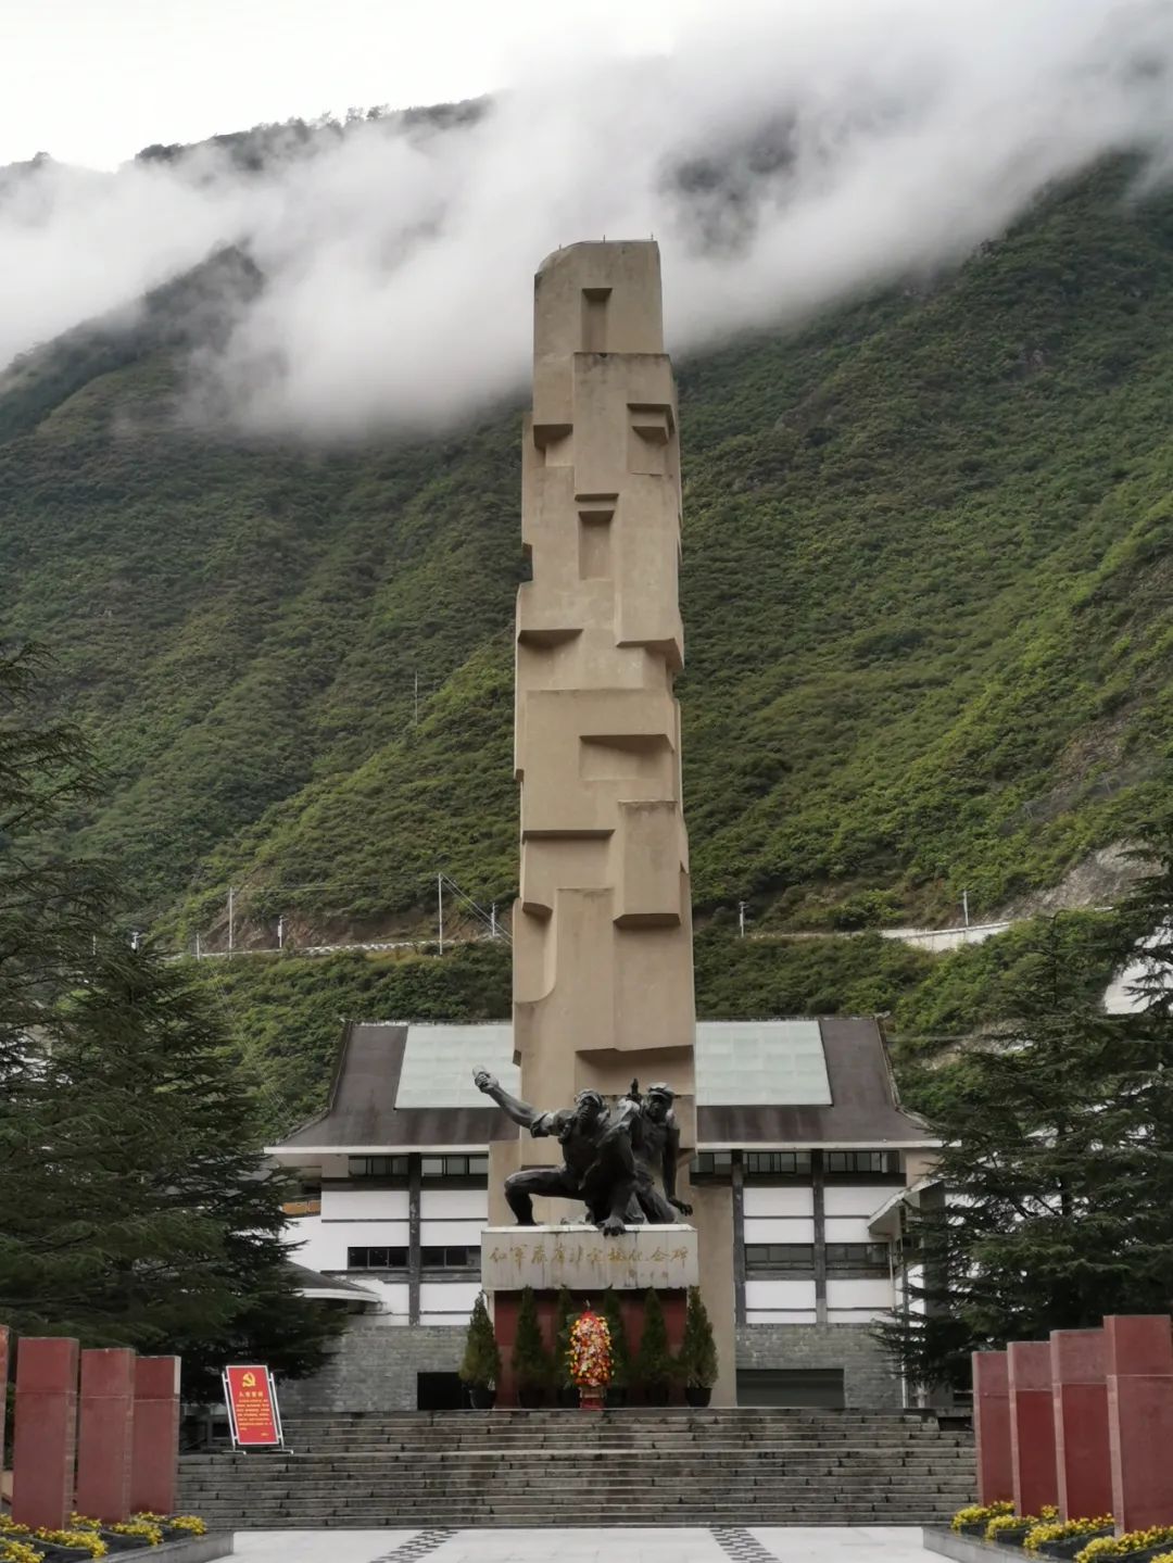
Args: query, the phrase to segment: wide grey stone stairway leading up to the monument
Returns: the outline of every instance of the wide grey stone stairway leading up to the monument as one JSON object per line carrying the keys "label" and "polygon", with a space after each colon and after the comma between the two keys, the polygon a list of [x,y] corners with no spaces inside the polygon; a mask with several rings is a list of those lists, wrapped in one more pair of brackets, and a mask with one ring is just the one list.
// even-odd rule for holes
{"label": "wide grey stone stairway leading up to the monument", "polygon": [[291,1418],[283,1454],[186,1455],[209,1529],[914,1525],[973,1500],[973,1440],[884,1411]]}

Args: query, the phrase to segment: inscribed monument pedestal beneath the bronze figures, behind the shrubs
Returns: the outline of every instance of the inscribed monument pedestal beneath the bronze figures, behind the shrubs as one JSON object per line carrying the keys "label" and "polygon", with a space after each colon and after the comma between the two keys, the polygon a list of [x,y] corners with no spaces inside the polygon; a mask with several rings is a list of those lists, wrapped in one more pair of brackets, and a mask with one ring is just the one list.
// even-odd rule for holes
{"label": "inscribed monument pedestal beneath the bronze figures, behind the shrubs", "polygon": [[620,1302],[628,1352],[644,1335],[644,1294],[659,1294],[669,1346],[679,1350],[689,1286],[700,1282],[697,1232],[686,1225],[628,1227],[617,1238],[587,1222],[558,1227],[486,1227],[481,1233],[481,1282],[494,1299],[494,1333],[501,1350],[497,1405],[517,1405],[511,1355],[517,1338],[522,1289],[531,1286],[548,1350],[554,1349],[554,1314],[562,1286],[579,1308],[600,1308],[611,1286]]}

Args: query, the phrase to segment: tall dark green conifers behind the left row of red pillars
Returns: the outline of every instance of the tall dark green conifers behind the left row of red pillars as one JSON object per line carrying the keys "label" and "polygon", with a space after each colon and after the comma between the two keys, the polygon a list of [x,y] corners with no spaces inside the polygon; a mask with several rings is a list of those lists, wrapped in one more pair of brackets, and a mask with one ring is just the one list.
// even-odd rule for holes
{"label": "tall dark green conifers behind the left row of red pillars", "polygon": [[34,672],[0,656],[0,1318],[180,1352],[189,1397],[242,1352],[311,1371],[334,1319],[295,1291],[219,1014],[111,932],[109,874],[53,847],[97,774],[34,719]]}

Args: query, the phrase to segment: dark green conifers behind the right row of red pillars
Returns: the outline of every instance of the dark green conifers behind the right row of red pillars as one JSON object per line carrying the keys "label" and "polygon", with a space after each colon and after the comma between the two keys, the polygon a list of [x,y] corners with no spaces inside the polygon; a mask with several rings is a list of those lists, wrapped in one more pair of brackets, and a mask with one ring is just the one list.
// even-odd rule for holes
{"label": "dark green conifers behind the right row of red pillars", "polygon": [[942,1068],[940,1183],[907,1218],[917,1307],[878,1327],[918,1383],[965,1385],[979,1347],[1173,1305],[1173,1022],[1089,1003],[1061,933],[1018,1019]]}

